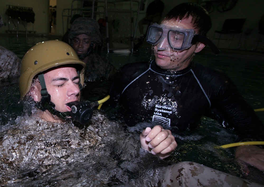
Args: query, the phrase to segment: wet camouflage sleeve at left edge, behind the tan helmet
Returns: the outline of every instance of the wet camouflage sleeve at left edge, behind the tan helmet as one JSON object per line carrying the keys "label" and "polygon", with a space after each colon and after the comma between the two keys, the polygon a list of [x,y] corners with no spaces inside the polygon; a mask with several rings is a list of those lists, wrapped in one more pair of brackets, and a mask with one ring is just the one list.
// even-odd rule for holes
{"label": "wet camouflage sleeve at left edge, behind the tan helmet", "polygon": [[19,75],[20,63],[15,53],[0,46],[0,80]]}

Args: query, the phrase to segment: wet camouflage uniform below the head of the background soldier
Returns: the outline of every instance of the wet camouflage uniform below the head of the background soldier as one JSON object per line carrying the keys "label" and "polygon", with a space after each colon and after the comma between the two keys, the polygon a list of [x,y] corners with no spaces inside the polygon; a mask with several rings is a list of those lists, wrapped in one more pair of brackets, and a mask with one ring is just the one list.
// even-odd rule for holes
{"label": "wet camouflage uniform below the head of the background soldier", "polygon": [[84,81],[102,81],[112,79],[115,67],[102,56],[92,53],[89,55]]}

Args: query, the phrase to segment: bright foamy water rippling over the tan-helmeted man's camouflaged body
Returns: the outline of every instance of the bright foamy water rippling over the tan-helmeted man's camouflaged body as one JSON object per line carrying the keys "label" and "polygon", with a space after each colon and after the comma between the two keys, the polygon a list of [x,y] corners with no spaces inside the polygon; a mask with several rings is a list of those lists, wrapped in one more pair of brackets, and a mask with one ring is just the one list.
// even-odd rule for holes
{"label": "bright foamy water rippling over the tan-helmeted man's camouflaged body", "polygon": [[[166,165],[140,148],[137,133],[95,112],[86,127],[18,117],[0,131],[2,185],[145,186]],[[168,164],[168,163],[167,163]]]}

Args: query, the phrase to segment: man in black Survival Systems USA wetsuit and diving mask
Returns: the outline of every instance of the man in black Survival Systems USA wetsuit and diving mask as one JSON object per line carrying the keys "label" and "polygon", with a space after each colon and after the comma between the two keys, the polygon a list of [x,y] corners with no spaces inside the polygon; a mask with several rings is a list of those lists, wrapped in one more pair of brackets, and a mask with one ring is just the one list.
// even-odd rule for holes
{"label": "man in black Survival Systems USA wetsuit and diving mask", "polygon": [[[155,60],[122,67],[110,95],[127,114],[151,120],[163,127],[184,131],[197,128],[201,116],[209,115],[234,128],[238,142],[264,141],[264,127],[224,74],[192,62],[206,44],[211,19],[201,6],[182,3],[173,8],[161,25],[149,27],[147,41],[154,45]],[[135,118],[133,118],[133,122]],[[130,120],[132,121],[132,120]],[[239,146],[236,159],[264,171],[264,150]]]}

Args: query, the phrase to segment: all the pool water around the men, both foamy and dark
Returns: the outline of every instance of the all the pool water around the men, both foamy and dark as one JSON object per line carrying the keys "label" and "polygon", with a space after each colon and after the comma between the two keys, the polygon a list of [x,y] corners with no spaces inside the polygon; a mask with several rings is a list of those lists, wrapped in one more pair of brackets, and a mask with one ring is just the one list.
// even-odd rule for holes
{"label": "all the pool water around the men, both foamy and dark", "polygon": [[[49,39],[0,38],[1,44],[9,45],[9,49],[15,51],[19,57],[36,42]],[[106,56],[120,67],[131,61],[149,59],[151,47],[146,50],[139,50],[133,55],[109,53]],[[264,107],[262,61],[254,60],[253,57],[248,60],[246,57],[242,59],[231,55],[216,57],[207,54],[197,54],[194,60],[227,73],[254,109]],[[264,173],[254,167],[248,166],[249,175],[244,176],[241,165],[234,160],[235,148],[216,148],[235,142],[237,136],[232,129],[225,129],[209,118],[203,118],[200,128],[196,131],[174,132],[178,147],[171,157],[161,161],[139,147],[140,132],[154,124],[140,123],[126,130],[122,120],[109,122],[107,119],[100,119],[99,116],[103,116],[100,114],[98,119],[94,118],[93,123],[103,122],[101,132],[106,134],[98,136],[100,138],[97,143],[89,144],[93,131],[84,130],[83,127],[74,126],[72,123],[58,124],[52,128],[44,122],[40,126],[34,126],[35,119],[21,117],[24,114],[22,104],[19,103],[18,79],[1,81],[0,85],[1,141],[5,136],[7,139],[9,136],[12,141],[5,145],[10,147],[12,144],[21,149],[19,154],[16,154],[15,150],[10,153],[10,157],[1,157],[0,180],[3,185],[142,186],[150,184],[149,176],[153,174],[154,168],[181,161],[194,161],[264,184]],[[96,100],[107,94],[108,87],[109,84],[93,84],[92,89],[84,90],[83,94],[86,99]],[[263,112],[258,115],[263,121]],[[69,142],[72,142],[71,145]],[[1,154],[4,154],[3,151],[4,149]],[[23,158],[23,155],[27,156]],[[15,157],[18,158],[17,161]],[[8,159],[11,161],[7,162]]]}

